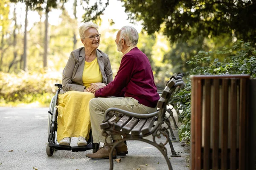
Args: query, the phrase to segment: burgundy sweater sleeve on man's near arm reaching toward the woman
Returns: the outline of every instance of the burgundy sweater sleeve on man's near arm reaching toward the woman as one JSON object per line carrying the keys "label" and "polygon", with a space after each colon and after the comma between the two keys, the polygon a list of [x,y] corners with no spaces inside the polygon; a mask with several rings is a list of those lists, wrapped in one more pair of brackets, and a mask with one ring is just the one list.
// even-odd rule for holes
{"label": "burgundy sweater sleeve on man's near arm reaching toward the woman", "polygon": [[95,97],[115,96],[128,85],[134,71],[134,61],[131,55],[125,55],[116,74],[115,79],[106,87],[95,92]]}

